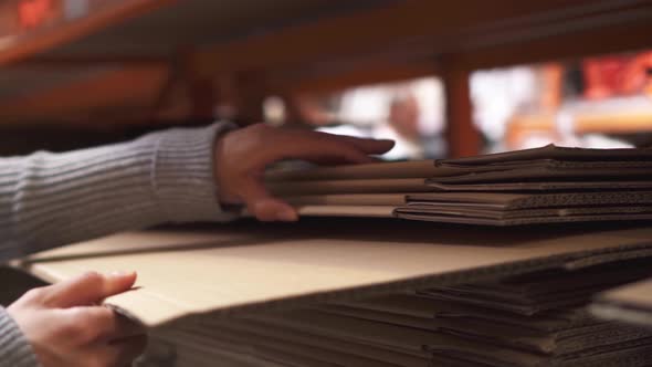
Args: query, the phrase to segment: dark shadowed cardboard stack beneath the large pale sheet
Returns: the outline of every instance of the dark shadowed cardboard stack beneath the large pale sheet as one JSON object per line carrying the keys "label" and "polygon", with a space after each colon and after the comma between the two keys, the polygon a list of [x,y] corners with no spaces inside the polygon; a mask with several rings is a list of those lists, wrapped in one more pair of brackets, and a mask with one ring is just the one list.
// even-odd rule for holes
{"label": "dark shadowed cardboard stack beneath the large pale sheet", "polygon": [[[200,317],[159,337],[190,338],[207,349],[217,340],[218,353],[286,366],[648,366],[652,332],[580,308],[589,283],[599,290],[652,273],[628,271],[635,265],[545,271],[234,319]],[[604,284],[589,281],[597,274]]]}

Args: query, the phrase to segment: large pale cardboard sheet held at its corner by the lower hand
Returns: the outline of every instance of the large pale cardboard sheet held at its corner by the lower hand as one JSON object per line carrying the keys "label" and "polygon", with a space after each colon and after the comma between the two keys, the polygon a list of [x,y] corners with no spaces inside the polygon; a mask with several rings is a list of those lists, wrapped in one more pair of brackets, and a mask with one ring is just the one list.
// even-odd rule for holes
{"label": "large pale cardboard sheet held at its corner by the lower hand", "polygon": [[652,228],[635,227],[505,232],[396,220],[234,223],[117,234],[41,253],[24,266],[48,281],[136,270],[139,287],[108,302],[155,326],[197,313],[467,283],[604,251],[635,256],[652,247],[651,238]]}

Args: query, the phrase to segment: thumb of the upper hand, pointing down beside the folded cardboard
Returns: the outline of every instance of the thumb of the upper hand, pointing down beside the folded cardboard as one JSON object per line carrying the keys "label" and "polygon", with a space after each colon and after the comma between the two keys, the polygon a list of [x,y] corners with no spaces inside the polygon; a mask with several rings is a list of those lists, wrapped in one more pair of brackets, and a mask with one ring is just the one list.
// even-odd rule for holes
{"label": "thumb of the upper hand, pointing down beside the folded cardboard", "polygon": [[250,177],[241,186],[240,196],[246,203],[246,209],[259,220],[264,222],[298,220],[296,210],[287,202],[272,197],[260,179]]}

